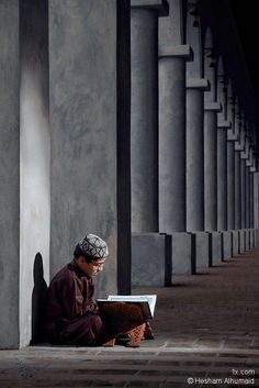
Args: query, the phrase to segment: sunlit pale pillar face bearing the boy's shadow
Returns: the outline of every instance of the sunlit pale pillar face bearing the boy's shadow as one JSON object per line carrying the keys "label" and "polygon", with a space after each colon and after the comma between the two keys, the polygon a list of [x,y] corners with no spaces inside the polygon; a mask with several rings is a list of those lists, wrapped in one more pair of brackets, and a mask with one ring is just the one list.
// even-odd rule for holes
{"label": "sunlit pale pillar face bearing the boy's shadow", "polygon": [[[20,345],[32,334],[32,317],[42,298],[40,284],[49,275],[49,128],[48,128],[47,1],[20,3],[21,59],[21,232],[20,232]],[[41,255],[36,260],[37,253]],[[35,276],[40,274],[42,276]],[[45,278],[43,279],[43,276]],[[37,290],[37,297],[35,295]],[[32,298],[33,309],[32,311]]]}

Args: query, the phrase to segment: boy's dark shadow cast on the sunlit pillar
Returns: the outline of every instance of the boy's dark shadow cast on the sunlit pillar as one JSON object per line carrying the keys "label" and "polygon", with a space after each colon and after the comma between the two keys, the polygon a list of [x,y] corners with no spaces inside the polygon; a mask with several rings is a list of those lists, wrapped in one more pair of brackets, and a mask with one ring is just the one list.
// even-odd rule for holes
{"label": "boy's dark shadow cast on the sunlit pillar", "polygon": [[31,345],[45,342],[45,301],[47,284],[44,279],[43,258],[37,253],[33,267],[34,287],[32,292],[32,340]]}

